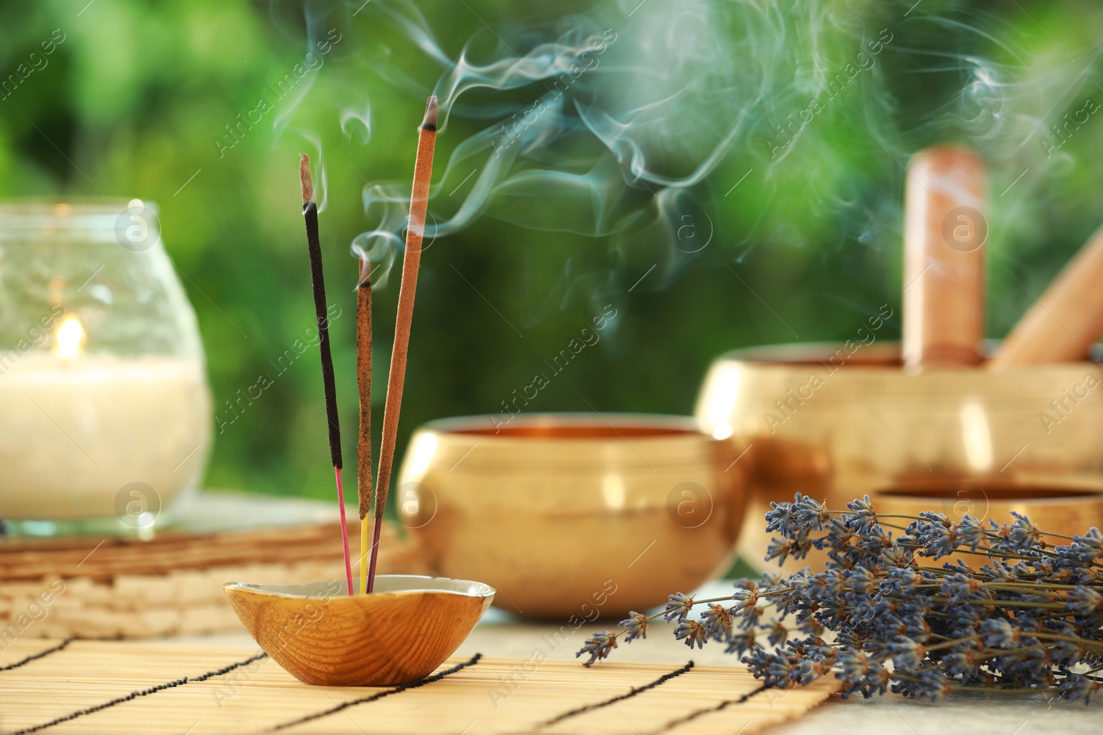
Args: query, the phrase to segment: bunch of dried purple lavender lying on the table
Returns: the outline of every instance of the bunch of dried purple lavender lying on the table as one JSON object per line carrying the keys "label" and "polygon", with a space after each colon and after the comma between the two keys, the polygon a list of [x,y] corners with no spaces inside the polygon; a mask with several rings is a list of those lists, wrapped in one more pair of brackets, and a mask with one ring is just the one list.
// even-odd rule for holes
{"label": "bunch of dried purple lavender lying on the table", "polygon": [[[769,687],[833,672],[845,683],[844,698],[891,689],[938,700],[979,690],[1047,692],[1086,704],[1103,683],[1099,529],[1048,533],[1019,514],[987,527],[972,516],[955,523],[939,512],[879,515],[868,496],[845,511],[800,494],[771,505],[767,530],[781,538],[767,561],[803,559],[815,548],[827,550],[827,569],[740,580],[731,597],[671,595],[664,612],[632,613],[577,656],[589,655],[591,666],[619,637],[646,637],[647,621],[662,616],[678,620],[674,636],[690,648],[718,641],[727,652],[747,653],[742,661]],[[931,563],[946,556],[954,559]],[[772,650],[759,642],[763,637]]]}

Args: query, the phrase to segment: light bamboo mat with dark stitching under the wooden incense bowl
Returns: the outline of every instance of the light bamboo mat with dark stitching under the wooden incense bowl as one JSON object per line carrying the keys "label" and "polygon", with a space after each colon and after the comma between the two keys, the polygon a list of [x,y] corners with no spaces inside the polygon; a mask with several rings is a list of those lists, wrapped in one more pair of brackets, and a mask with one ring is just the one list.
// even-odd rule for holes
{"label": "light bamboo mat with dark stitching under the wooden incense bowl", "polygon": [[750,735],[837,690],[767,690],[741,667],[480,656],[406,687],[308,687],[258,653],[20,639],[0,651],[0,733]]}

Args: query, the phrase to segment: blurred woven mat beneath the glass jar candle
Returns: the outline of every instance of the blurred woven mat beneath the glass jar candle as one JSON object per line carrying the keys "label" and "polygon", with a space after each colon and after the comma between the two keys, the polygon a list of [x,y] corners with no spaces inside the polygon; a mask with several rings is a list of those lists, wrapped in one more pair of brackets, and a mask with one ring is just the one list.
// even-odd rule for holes
{"label": "blurred woven mat beneath the glass jar candle", "polygon": [[[240,502],[237,498],[215,496],[202,502],[211,514],[239,515],[232,505]],[[248,502],[271,516],[286,507],[292,523],[217,532],[169,528],[148,541],[0,540],[0,646],[22,637],[143,638],[240,630],[223,583],[344,577],[340,527],[328,515],[302,514],[295,525],[301,501]],[[332,517],[336,515],[333,505]],[[389,523],[383,527],[378,563],[383,574],[428,573]]]}

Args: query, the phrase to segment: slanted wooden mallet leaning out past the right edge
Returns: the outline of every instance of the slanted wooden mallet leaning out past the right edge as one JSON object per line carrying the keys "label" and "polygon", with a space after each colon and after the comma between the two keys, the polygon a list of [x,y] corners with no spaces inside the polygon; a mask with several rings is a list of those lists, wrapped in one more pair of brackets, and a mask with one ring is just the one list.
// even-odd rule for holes
{"label": "slanted wooden mallet leaning out past the right edge", "polygon": [[1082,360],[1103,335],[1103,228],[1061,271],[992,356],[988,367]]}

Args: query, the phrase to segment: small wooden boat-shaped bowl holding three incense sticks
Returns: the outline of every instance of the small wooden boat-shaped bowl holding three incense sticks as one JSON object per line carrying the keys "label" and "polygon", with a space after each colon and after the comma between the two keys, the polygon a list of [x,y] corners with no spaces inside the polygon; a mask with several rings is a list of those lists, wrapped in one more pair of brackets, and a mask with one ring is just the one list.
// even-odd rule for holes
{"label": "small wooden boat-shaped bowl holding three incense sticks", "polygon": [[385,687],[424,679],[490,607],[481,582],[381,574],[371,595],[344,582],[223,585],[257,645],[292,677],[324,687]]}

